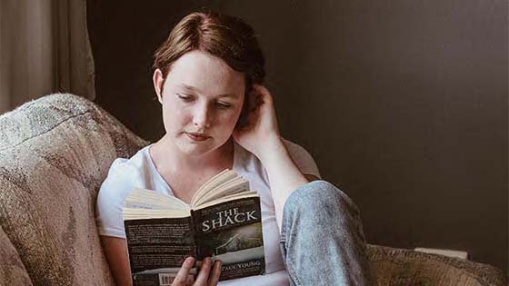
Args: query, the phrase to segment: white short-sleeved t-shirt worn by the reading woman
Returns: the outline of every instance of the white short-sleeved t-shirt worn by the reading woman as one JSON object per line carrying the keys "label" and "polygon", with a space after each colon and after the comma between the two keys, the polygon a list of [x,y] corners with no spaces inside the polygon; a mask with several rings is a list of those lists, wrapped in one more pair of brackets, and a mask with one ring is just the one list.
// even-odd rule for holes
{"label": "white short-sleeved t-shirt worn by the reading woman", "polygon": [[[284,143],[301,173],[312,174],[320,178],[320,173],[318,173],[313,158],[303,147],[289,141],[284,141]],[[97,197],[95,219],[101,235],[125,238],[122,207],[125,198],[133,188],[144,188],[174,195],[155,168],[148,152],[151,146],[148,145],[141,149],[131,159],[117,158],[112,163]],[[287,286],[289,285],[288,273],[284,269],[284,262],[279,249],[279,230],[275,220],[274,202],[267,173],[258,158],[237,143],[234,143],[233,170],[249,181],[251,189],[260,195],[264,233],[265,275],[221,281],[219,285]]]}

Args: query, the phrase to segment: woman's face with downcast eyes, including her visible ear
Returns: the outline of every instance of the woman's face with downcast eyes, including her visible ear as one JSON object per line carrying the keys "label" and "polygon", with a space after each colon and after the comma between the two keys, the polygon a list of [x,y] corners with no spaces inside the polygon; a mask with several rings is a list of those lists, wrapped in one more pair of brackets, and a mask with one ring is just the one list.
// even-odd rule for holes
{"label": "woman's face with downcast eyes, including her visible ear", "polygon": [[178,150],[204,155],[228,141],[244,103],[244,74],[212,54],[192,51],[172,64],[166,80],[156,70],[154,84],[165,137]]}

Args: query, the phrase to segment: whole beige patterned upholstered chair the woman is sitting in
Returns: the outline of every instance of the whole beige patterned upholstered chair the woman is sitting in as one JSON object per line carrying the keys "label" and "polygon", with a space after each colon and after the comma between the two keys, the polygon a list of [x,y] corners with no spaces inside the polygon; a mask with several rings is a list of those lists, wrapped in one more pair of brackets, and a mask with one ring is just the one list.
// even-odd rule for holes
{"label": "whole beige patterned upholstered chair the woman is sitting in", "polygon": [[[95,227],[110,164],[145,146],[95,104],[52,94],[0,116],[0,285],[115,284]],[[368,246],[379,285],[506,285],[494,267]]]}

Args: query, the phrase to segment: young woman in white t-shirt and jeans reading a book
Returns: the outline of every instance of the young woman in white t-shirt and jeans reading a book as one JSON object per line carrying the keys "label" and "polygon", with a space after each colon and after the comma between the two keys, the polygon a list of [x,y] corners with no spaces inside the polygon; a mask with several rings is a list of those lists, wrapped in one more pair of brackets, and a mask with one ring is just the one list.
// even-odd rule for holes
{"label": "young woman in white t-shirt and jeans reading a book", "polygon": [[[279,134],[253,29],[235,17],[185,16],[155,53],[154,87],[165,135],[131,159],[116,159],[97,199],[97,223],[118,285],[130,285],[122,207],[134,187],[189,202],[226,168],[262,202],[263,276],[217,282],[220,261],[205,259],[194,285],[369,285],[358,211],[318,180],[313,158]],[[192,178],[192,179],[190,179]],[[312,182],[315,181],[315,182]],[[172,285],[183,285],[185,260]]]}

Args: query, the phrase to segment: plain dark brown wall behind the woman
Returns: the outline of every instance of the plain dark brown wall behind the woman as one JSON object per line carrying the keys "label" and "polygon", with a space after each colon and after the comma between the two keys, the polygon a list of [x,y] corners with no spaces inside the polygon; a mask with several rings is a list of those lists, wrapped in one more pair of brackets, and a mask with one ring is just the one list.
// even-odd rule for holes
{"label": "plain dark brown wall behind the woman", "polygon": [[507,2],[88,1],[96,102],[164,132],[152,54],[201,6],[244,18],[284,137],[359,205],[369,242],[508,271]]}

